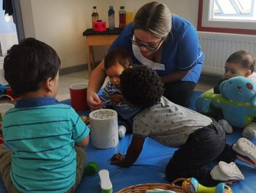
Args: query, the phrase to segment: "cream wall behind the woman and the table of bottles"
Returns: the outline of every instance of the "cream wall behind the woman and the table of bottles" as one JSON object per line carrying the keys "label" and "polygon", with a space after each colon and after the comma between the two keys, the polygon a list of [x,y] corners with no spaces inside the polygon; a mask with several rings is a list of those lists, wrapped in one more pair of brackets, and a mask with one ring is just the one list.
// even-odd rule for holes
{"label": "cream wall behind the woman and the table of bottles", "polygon": [[[113,6],[118,27],[118,10],[125,6],[127,12],[138,10],[146,0],[21,0],[21,12],[26,37],[35,37],[51,45],[59,54],[62,68],[87,63],[85,37],[82,32],[91,28],[91,13],[97,6],[100,19],[107,22],[107,11]],[[198,0],[163,0],[170,10],[197,23]],[[95,60],[100,61],[108,47],[95,48]]]}

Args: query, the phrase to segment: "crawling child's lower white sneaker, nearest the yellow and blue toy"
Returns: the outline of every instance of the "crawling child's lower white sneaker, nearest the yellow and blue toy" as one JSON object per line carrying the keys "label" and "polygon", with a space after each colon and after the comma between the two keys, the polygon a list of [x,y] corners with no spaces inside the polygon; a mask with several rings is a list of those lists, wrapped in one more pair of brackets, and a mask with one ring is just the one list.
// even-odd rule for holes
{"label": "crawling child's lower white sneaker, nearest the yellow and blue toy", "polygon": [[226,163],[224,161],[220,161],[218,165],[212,168],[210,175],[212,176],[212,179],[217,181],[244,180],[244,175],[234,162]]}

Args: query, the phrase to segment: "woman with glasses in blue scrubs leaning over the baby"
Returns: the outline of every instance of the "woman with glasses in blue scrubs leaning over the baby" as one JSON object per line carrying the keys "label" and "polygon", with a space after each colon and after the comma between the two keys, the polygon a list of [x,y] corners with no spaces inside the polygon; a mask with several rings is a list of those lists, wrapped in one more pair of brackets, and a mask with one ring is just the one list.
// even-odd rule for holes
{"label": "woman with glasses in blue scrubs leaning over the baby", "polygon": [[[133,65],[148,65],[156,70],[164,83],[163,96],[188,107],[204,60],[196,29],[189,21],[172,15],[164,3],[147,3],[109,50],[118,47],[131,54]],[[91,110],[102,107],[97,92],[105,77],[103,59],[89,79],[87,101]]]}

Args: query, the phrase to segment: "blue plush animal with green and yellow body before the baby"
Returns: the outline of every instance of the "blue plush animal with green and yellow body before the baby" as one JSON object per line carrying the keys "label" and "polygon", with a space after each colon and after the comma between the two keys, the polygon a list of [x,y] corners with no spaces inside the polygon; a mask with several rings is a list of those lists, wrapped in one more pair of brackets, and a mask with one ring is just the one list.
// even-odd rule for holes
{"label": "blue plush animal with green and yellow body before the baby", "polygon": [[244,137],[256,139],[256,123],[252,122],[256,117],[256,84],[246,77],[234,77],[223,81],[219,88],[221,94],[211,89],[199,96],[196,110],[212,117],[221,110],[230,125],[244,128]]}

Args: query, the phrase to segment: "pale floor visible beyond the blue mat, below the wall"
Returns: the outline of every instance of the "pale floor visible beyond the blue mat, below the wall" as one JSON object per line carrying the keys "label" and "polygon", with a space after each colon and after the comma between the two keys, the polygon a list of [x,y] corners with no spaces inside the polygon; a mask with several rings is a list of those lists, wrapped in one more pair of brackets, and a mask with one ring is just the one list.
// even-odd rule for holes
{"label": "pale floor visible beyond the blue mat, below the wall", "polygon": [[[195,90],[199,90],[199,91],[209,90],[210,88],[214,87],[214,85],[217,83],[217,80],[218,80],[217,77],[211,77],[209,75],[202,74],[201,78],[199,79],[199,83],[197,83],[196,85]],[[89,81],[89,78],[88,78],[87,70],[61,75],[59,79],[59,92],[56,98],[59,101],[69,99],[70,98],[69,85],[73,83],[88,84],[88,81]],[[107,80],[105,81],[105,83],[106,82]]]}

